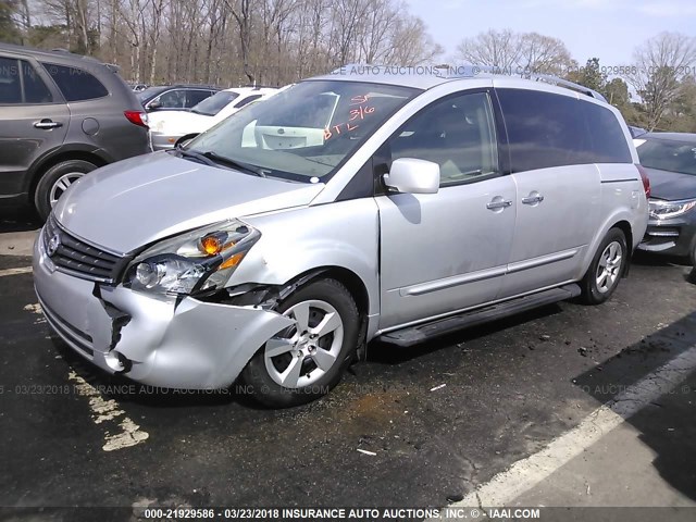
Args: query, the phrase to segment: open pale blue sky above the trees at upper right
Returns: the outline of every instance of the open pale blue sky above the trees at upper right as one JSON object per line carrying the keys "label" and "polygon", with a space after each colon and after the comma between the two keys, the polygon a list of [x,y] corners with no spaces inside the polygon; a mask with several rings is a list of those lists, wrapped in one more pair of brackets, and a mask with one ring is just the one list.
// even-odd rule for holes
{"label": "open pale blue sky above the trees at upper right", "polygon": [[696,37],[696,0],[408,0],[410,12],[455,57],[467,37],[494,29],[561,39],[580,64],[631,63],[634,49],[664,30]]}

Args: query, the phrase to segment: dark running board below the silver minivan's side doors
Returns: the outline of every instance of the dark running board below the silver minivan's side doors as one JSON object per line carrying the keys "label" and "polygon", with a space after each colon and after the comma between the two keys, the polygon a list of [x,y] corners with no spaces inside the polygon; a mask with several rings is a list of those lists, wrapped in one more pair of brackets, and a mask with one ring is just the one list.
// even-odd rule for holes
{"label": "dark running board below the silver minivan's side doors", "polygon": [[580,296],[580,286],[573,283],[559,288],[551,288],[530,296],[511,299],[490,307],[462,312],[458,315],[438,319],[430,323],[396,330],[381,335],[378,339],[382,343],[395,346],[413,346],[462,328],[495,321],[525,310],[543,307],[544,304],[572,299],[573,297]]}

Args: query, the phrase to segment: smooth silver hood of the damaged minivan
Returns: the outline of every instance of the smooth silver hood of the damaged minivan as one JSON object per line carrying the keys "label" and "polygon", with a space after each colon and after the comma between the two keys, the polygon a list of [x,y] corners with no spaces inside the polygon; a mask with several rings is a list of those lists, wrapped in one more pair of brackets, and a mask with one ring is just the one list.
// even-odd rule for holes
{"label": "smooth silver hood of the damaged minivan", "polygon": [[84,176],[58,200],[53,213],[72,234],[128,252],[226,219],[307,206],[323,187],[154,152]]}

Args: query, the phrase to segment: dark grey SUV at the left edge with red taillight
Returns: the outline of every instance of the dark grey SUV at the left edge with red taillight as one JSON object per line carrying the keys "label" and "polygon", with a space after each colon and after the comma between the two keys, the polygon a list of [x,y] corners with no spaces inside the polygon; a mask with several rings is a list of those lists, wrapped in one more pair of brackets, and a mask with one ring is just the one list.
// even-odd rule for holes
{"label": "dark grey SUV at the left edge with red taillight", "polygon": [[0,204],[46,219],[86,173],[148,151],[147,114],[114,67],[0,44]]}

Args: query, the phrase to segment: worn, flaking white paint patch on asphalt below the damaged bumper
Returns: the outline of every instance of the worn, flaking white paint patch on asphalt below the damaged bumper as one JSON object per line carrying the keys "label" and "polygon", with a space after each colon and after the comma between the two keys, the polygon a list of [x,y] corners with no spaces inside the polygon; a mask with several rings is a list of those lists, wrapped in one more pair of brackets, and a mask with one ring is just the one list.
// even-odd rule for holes
{"label": "worn, flaking white paint patch on asphalt below the damaged bumper", "polygon": [[115,400],[104,399],[97,388],[77,375],[74,370],[71,370],[67,378],[75,383],[75,388],[79,395],[89,398],[89,409],[91,410],[94,423],[105,423],[104,445],[101,449],[113,451],[128,448],[145,442],[150,436],[127,417],[123,417],[121,422],[116,424],[119,418],[125,415],[125,411],[121,409],[121,406]]}

